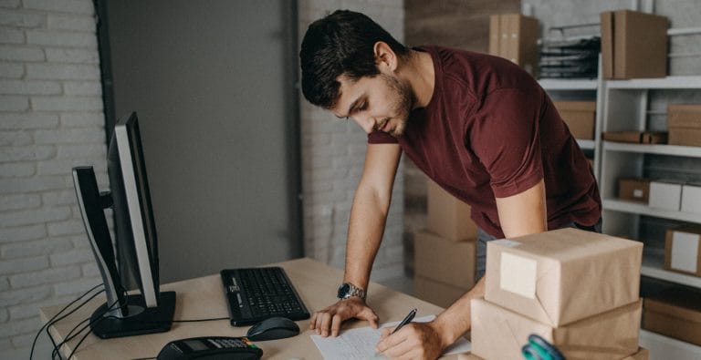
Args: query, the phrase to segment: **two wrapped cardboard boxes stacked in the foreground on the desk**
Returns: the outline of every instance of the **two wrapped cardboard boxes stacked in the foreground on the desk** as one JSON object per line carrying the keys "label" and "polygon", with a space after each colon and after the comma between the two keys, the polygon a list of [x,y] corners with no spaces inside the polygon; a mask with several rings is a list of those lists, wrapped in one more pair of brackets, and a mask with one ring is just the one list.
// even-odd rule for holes
{"label": "two wrapped cardboard boxes stacked in the foreground on the desk", "polygon": [[473,353],[519,358],[539,334],[568,359],[635,355],[642,256],[641,242],[577,229],[489,242],[485,298],[472,301]]}

